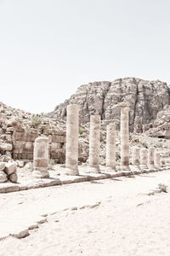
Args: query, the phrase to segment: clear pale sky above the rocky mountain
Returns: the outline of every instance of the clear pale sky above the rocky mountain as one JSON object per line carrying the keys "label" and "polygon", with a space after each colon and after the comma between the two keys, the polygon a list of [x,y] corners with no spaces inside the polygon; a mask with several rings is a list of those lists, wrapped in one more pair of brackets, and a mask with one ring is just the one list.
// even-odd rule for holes
{"label": "clear pale sky above the rocky mountain", "polygon": [[169,0],[0,0],[0,101],[49,112],[88,82],[170,83]]}

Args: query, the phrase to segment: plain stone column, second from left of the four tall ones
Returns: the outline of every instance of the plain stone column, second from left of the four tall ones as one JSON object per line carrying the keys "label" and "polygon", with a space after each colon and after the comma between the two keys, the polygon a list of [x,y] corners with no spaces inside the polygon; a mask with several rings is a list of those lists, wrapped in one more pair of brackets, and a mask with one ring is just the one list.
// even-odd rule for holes
{"label": "plain stone column, second from left of the four tall ones", "polygon": [[100,148],[100,116],[90,117],[89,136],[89,172],[99,171],[99,148]]}

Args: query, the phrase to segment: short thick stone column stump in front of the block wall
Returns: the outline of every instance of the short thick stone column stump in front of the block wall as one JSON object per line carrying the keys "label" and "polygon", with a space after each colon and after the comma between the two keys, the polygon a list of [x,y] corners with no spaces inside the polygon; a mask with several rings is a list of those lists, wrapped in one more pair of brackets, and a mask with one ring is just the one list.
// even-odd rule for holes
{"label": "short thick stone column stump in front of the block wall", "polygon": [[33,177],[49,177],[48,137],[37,137],[34,143]]}

